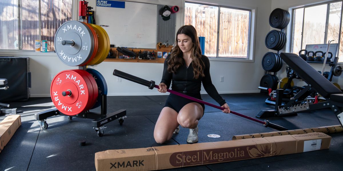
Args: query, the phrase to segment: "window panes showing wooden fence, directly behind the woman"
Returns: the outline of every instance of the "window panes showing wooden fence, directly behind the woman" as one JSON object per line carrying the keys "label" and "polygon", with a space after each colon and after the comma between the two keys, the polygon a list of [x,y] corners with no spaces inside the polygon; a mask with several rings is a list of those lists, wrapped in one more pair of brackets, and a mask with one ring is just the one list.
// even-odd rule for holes
{"label": "window panes showing wooden fence, directly behind the woman", "polygon": [[185,3],[185,25],[205,37],[208,57],[249,58],[250,20],[249,10]]}

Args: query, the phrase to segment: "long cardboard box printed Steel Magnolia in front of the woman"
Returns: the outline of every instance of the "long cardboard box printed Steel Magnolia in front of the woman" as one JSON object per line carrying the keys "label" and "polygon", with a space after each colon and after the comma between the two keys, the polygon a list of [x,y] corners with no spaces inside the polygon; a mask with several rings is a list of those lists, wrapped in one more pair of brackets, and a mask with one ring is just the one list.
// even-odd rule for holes
{"label": "long cardboard box printed Steel Magnolia in front of the woman", "polygon": [[210,143],[106,150],[95,153],[97,171],[146,171],[206,165],[329,148],[331,136],[312,132]]}

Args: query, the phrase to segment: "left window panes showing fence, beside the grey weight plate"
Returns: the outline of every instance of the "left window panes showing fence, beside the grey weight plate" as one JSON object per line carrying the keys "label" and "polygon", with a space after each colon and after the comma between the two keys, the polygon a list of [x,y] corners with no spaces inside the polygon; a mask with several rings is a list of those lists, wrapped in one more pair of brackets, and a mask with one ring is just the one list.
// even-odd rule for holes
{"label": "left window panes showing fence, beside the grey weight plate", "polygon": [[54,51],[57,28],[71,20],[72,0],[0,2],[0,49],[35,50],[35,40],[47,40]]}

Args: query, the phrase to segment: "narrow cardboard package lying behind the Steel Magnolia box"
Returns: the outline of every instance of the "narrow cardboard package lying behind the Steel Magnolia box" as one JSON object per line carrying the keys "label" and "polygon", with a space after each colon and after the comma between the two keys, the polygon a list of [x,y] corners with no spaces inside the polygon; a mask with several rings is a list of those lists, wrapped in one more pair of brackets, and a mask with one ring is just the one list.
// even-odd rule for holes
{"label": "narrow cardboard package lying behind the Steel Magnolia box", "polygon": [[264,132],[256,134],[245,134],[245,135],[235,135],[232,140],[238,139],[249,139],[249,138],[260,138],[267,136],[280,136],[280,135],[296,135],[296,134],[307,134],[309,132],[322,132],[326,134],[343,132],[341,125],[327,126],[327,127],[317,127],[317,128],[305,128],[305,129],[295,129],[288,131],[276,131],[276,132]]}

